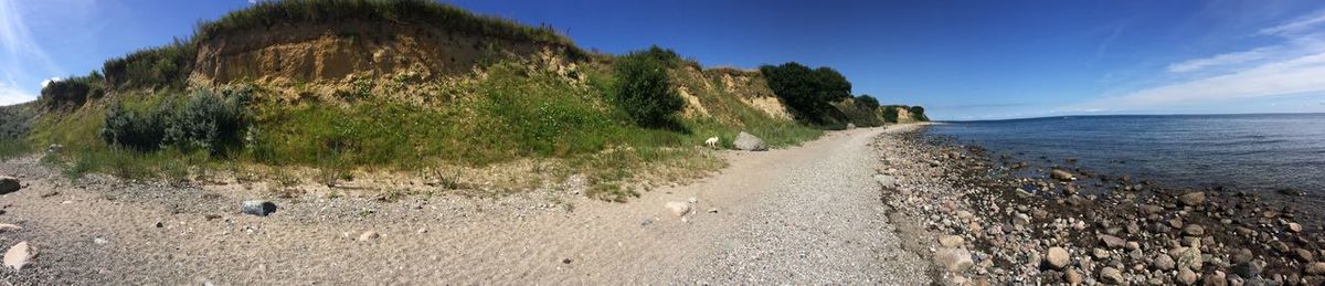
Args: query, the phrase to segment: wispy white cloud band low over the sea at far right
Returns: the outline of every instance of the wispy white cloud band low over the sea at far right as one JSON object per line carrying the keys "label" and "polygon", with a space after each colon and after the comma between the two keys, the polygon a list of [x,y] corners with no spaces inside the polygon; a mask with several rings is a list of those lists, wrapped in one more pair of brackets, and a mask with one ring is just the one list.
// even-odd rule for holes
{"label": "wispy white cloud band low over the sea at far right", "polygon": [[1309,93],[1325,93],[1325,52],[1104,98],[1080,109],[1134,110]]}

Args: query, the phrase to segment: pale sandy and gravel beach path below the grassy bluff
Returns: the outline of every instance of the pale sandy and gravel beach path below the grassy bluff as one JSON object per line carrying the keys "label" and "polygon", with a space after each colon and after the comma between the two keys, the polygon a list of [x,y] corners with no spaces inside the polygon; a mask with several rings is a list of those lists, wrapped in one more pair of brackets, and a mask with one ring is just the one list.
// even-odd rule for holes
{"label": "pale sandy and gravel beach path below the grassy bluff", "polygon": [[[213,188],[68,179],[34,159],[0,164],[30,184],[0,196],[8,248],[28,283],[928,283],[898,246],[871,176],[874,135],[832,132],[803,147],[730,152],[696,184],[627,204],[559,193],[496,199],[276,200],[269,217]],[[662,205],[694,197],[685,220]],[[717,212],[709,212],[716,209]],[[359,241],[363,232],[380,237]]]}

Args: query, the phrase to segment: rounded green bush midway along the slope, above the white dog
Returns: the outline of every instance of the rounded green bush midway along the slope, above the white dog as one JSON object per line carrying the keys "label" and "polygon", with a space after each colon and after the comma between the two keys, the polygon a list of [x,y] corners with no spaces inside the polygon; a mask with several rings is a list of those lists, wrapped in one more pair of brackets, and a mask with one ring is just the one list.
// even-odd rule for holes
{"label": "rounded green bush midway along the slope, above the white dog", "polygon": [[685,107],[685,99],[672,86],[668,70],[680,62],[676,52],[659,46],[635,52],[613,64],[616,90],[613,99],[636,124],[674,127],[672,117]]}

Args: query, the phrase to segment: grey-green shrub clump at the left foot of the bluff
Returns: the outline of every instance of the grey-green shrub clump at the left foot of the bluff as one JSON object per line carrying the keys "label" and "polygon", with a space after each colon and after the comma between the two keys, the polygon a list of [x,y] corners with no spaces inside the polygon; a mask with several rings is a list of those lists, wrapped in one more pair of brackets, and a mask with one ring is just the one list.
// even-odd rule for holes
{"label": "grey-green shrub clump at the left foot of the bluff", "polygon": [[242,143],[248,99],[246,90],[227,91],[225,97],[201,90],[184,98],[183,103],[168,99],[140,106],[111,102],[101,138],[107,144],[138,151],[174,144],[183,150],[219,154]]}

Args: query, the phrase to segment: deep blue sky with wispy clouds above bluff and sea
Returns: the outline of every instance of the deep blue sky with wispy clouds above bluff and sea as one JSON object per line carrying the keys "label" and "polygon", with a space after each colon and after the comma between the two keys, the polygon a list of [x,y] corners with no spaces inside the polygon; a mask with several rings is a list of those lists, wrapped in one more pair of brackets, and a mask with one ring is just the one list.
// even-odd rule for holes
{"label": "deep blue sky with wispy clouds above bluff and sea", "polygon": [[[450,1],[580,46],[798,61],[937,119],[1322,113],[1322,1]],[[0,105],[186,37],[248,0],[0,0]]]}

